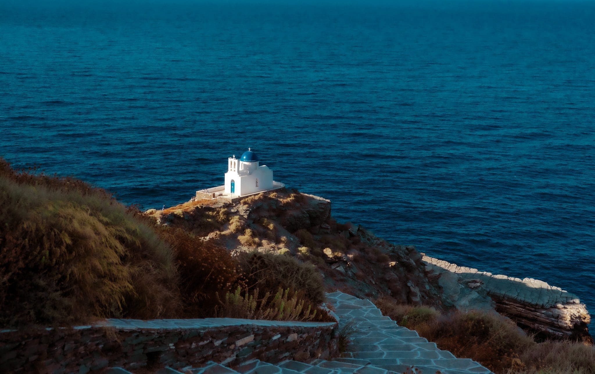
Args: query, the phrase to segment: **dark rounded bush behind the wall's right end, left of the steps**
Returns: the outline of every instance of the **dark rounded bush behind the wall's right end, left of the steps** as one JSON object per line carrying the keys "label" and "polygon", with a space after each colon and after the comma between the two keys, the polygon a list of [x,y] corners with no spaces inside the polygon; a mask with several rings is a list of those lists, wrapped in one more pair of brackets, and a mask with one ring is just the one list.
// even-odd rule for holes
{"label": "dark rounded bush behind the wall's right end, left of the steps", "polygon": [[324,302],[324,282],[312,264],[305,264],[291,256],[258,251],[242,252],[237,260],[246,277],[249,289],[274,293],[278,287],[297,290],[300,299],[318,307]]}

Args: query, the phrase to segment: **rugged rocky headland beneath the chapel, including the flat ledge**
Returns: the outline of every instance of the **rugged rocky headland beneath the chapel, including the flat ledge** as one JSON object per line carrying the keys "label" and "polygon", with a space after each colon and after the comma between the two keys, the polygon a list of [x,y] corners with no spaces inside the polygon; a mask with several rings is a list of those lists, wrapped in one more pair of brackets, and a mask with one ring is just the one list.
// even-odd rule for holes
{"label": "rugged rocky headland beneath the chapel, including the flat ledge", "polygon": [[[313,262],[329,291],[448,310],[489,310],[541,338],[592,343],[590,315],[577,296],[533,278],[507,277],[460,267],[376,237],[364,227],[337,223],[331,202],[297,191],[249,196],[231,203],[197,199],[164,211],[158,223],[183,227],[230,251],[274,251]],[[212,217],[229,215],[217,225]],[[233,218],[236,216],[237,218]]]}

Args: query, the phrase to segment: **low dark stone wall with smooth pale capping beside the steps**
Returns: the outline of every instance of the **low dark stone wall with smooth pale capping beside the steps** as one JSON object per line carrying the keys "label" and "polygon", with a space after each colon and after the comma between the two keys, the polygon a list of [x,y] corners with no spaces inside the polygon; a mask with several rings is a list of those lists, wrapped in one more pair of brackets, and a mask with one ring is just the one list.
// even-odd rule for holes
{"label": "low dark stone wall with smooth pale capping beside the steps", "polygon": [[337,355],[334,322],[108,319],[75,328],[0,332],[0,372],[87,373],[105,367],[238,366]]}

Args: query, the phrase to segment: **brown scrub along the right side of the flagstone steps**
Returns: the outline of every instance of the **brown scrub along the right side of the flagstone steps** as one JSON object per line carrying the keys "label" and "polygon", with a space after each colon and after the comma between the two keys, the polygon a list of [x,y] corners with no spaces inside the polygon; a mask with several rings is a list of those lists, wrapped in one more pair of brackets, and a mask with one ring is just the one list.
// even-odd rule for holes
{"label": "brown scrub along the right side of the flagstone steps", "polygon": [[595,373],[595,350],[572,341],[536,343],[496,313],[442,314],[426,306],[403,305],[380,297],[376,305],[397,324],[415,329],[441,350],[469,358],[500,374]]}

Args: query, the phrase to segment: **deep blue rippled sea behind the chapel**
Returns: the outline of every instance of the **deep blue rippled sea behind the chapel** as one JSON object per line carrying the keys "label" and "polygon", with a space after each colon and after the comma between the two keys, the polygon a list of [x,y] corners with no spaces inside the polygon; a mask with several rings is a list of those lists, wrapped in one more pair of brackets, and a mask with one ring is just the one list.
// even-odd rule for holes
{"label": "deep blue rippled sea behind the chapel", "polygon": [[595,2],[0,1],[0,156],[161,208],[252,147],[428,255],[595,310]]}

